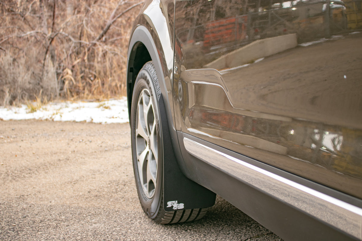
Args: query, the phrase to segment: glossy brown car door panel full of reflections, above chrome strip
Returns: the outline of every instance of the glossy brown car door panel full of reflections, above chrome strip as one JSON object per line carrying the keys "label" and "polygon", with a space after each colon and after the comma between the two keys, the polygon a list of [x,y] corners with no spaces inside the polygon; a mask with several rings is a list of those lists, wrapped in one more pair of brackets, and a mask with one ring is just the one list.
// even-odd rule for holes
{"label": "glossy brown car door panel full of reflections, above chrome strip", "polygon": [[362,198],[362,23],[352,10],[176,1],[176,129]]}

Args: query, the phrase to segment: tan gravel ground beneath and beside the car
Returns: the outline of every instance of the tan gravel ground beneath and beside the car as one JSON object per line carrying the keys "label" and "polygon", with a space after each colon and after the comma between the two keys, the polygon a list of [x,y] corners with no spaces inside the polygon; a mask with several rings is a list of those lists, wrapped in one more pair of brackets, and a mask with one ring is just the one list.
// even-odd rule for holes
{"label": "tan gravel ground beneath and beside the car", "polygon": [[220,197],[198,221],[147,219],[134,184],[129,129],[0,121],[0,240],[281,240]]}

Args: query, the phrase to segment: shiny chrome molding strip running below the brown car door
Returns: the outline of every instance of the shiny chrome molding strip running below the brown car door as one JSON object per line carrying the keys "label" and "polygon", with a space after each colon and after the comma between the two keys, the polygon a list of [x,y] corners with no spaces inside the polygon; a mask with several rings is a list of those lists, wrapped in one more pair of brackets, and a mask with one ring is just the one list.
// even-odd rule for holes
{"label": "shiny chrome molding strip running below the brown car door", "polygon": [[202,161],[362,240],[362,208],[343,202],[184,137],[186,150]]}

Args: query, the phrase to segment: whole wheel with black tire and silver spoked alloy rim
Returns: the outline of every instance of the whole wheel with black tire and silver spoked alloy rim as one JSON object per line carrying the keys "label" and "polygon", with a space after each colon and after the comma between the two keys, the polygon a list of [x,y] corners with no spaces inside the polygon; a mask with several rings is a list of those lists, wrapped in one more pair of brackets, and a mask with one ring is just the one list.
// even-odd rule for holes
{"label": "whole wheel with black tire and silver spoked alloy rim", "polygon": [[162,122],[165,121],[161,120],[166,117],[160,116],[159,98],[159,81],[150,61],[137,75],[131,104],[132,159],[139,201],[148,218],[157,223],[197,220],[208,208],[164,210],[163,162],[167,160],[163,155],[162,135],[169,133],[162,133]]}

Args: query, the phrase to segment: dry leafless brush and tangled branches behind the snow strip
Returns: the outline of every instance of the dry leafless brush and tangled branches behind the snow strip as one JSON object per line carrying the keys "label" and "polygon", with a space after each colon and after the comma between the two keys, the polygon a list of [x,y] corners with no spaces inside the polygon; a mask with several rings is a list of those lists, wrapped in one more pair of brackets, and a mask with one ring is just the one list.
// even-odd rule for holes
{"label": "dry leafless brush and tangled branches behind the snow strip", "polygon": [[0,104],[125,94],[140,0],[0,2]]}

